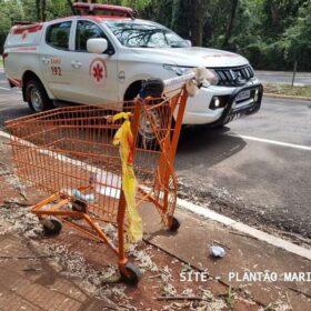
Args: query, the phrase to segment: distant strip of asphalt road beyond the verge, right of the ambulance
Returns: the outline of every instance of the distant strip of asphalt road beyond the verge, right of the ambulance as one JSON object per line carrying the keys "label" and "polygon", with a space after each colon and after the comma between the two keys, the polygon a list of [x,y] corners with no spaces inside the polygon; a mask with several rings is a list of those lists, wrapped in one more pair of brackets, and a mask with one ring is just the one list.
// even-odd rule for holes
{"label": "distant strip of asphalt road beyond the verge, right of the ambulance", "polygon": [[[262,83],[292,83],[292,72],[255,71]],[[294,78],[295,86],[311,86],[311,73],[298,72]]]}

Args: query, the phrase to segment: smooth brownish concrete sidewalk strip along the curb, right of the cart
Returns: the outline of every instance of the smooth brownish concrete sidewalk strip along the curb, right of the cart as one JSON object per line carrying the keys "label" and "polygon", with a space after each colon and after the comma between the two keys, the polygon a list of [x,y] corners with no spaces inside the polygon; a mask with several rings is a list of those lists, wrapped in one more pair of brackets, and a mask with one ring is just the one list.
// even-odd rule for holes
{"label": "smooth brownish concrete sidewalk strip along the curb, right of the cart", "polygon": [[[161,229],[161,224],[154,222],[157,219],[154,209],[142,208],[140,212],[148,231],[146,239],[198,270],[207,269],[211,275],[222,282],[235,289],[247,290],[255,301],[263,305],[275,301],[288,303],[289,299],[293,310],[311,308],[309,299],[311,298],[311,261],[242,234],[230,227],[200,220],[183,211],[175,213],[181,227],[178,234],[172,237]],[[209,245],[213,241],[224,247],[227,255],[223,259],[215,260],[209,255]],[[278,280],[271,280],[271,282],[242,280],[250,275],[248,272],[268,272],[267,277],[271,279],[277,274]],[[305,281],[284,281],[284,273],[289,274],[289,272],[303,273],[301,275],[305,277]]]}

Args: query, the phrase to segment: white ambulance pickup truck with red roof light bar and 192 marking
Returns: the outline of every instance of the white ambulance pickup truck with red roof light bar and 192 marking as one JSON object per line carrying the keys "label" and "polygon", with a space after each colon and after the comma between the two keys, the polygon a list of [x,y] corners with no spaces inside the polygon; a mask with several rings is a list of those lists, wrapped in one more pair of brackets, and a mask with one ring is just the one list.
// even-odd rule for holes
{"label": "white ambulance pickup truck with red roof light bar and 192 marking", "polygon": [[169,79],[197,67],[208,69],[210,83],[189,99],[183,124],[223,126],[260,109],[263,89],[245,58],[191,47],[168,28],[136,19],[130,8],[74,7],[79,16],[16,24],[6,40],[7,77],[33,111],[51,109],[57,101],[120,102],[119,110],[139,93],[143,80]]}

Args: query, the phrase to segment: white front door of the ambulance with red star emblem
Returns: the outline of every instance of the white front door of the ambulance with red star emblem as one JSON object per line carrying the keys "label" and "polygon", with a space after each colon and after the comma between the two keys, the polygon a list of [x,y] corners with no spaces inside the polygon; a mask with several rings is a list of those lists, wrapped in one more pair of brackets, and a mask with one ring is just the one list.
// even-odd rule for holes
{"label": "white front door of the ambulance with red star emblem", "polygon": [[80,19],[74,28],[74,49],[66,53],[64,60],[66,68],[70,67],[72,72],[70,74],[70,100],[97,104],[117,101],[118,63],[111,42],[109,42],[108,50],[102,54],[89,53],[87,51],[87,41],[92,38],[104,38],[108,40],[107,36],[91,20]]}

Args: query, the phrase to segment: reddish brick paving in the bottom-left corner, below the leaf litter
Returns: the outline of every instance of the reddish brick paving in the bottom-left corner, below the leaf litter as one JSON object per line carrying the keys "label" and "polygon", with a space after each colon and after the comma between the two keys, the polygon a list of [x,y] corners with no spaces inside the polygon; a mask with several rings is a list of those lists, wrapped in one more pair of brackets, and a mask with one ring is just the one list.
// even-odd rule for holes
{"label": "reddish brick paving in the bottom-left corner, below the leaf litter", "polygon": [[[21,237],[0,235],[0,310],[103,310],[109,301],[91,297],[57,272]],[[11,260],[10,257],[24,259]],[[114,307],[112,302],[109,303]]]}

